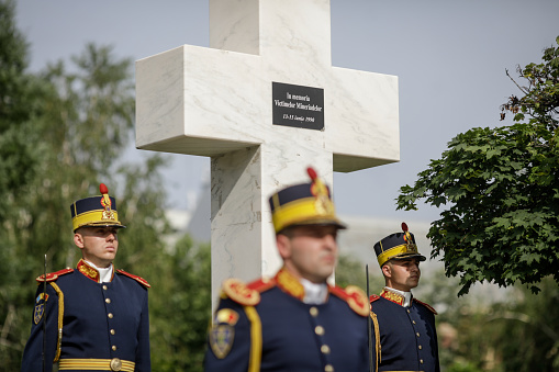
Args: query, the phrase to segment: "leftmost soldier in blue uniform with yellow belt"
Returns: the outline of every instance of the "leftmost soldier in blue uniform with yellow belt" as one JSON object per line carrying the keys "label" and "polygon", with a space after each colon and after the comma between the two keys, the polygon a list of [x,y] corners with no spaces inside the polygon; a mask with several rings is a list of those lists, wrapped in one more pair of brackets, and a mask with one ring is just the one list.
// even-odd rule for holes
{"label": "leftmost soldier in blue uniform with yellow belt", "polygon": [[[114,270],[119,249],[116,205],[101,195],[71,204],[77,269],[37,278],[31,336],[22,372],[150,371],[147,289],[142,278]],[[45,290],[46,288],[46,290]],[[43,369],[43,358],[45,359]]]}

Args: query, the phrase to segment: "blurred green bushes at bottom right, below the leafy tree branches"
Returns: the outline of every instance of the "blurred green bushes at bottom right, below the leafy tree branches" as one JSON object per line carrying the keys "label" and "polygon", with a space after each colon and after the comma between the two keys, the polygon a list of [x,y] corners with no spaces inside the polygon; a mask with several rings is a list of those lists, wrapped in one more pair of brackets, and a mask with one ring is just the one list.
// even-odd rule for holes
{"label": "blurred green bushes at bottom right, below the leafy tree branches", "polygon": [[[536,295],[511,288],[494,302],[482,292],[482,302],[462,296],[448,303],[438,316],[441,365],[449,371],[543,371],[559,369],[559,288],[546,277]],[[479,294],[479,293],[478,293]],[[452,338],[445,336],[451,327]]]}

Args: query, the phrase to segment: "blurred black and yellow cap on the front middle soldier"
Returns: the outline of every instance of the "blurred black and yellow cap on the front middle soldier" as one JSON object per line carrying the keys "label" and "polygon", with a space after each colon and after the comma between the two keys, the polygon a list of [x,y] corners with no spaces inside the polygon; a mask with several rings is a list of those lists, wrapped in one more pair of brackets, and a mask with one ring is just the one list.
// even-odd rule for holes
{"label": "blurred black and yellow cap on the front middle soldier", "polygon": [[308,168],[310,183],[301,183],[282,189],[270,196],[271,217],[276,233],[298,225],[346,226],[336,216],[329,189]]}

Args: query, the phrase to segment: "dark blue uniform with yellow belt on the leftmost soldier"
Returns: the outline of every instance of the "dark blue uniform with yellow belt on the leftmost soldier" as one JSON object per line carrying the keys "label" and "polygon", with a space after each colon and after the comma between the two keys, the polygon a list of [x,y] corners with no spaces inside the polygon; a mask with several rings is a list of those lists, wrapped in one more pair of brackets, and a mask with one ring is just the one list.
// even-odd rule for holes
{"label": "dark blue uniform with yellow belt on the leftmost soldier", "polygon": [[59,362],[60,371],[111,371],[111,361],[121,363],[121,371],[150,371],[149,284],[122,270],[113,274],[111,282],[98,283],[92,278],[96,273],[97,270],[80,260],[77,270],[48,274],[46,301],[42,279],[37,279],[40,285],[22,372],[42,371],[45,303],[45,371],[53,370],[54,361]]}

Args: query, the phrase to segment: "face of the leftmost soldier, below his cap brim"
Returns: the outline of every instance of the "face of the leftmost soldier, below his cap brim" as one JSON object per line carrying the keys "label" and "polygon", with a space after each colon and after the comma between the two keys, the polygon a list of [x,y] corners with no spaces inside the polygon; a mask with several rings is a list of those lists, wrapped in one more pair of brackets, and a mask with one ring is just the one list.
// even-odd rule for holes
{"label": "face of the leftmost soldier, below his cap brim", "polygon": [[81,227],[74,234],[74,243],[83,259],[98,268],[108,268],[119,250],[118,233],[115,227]]}

